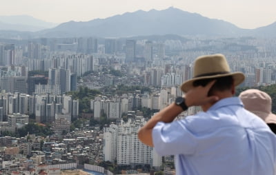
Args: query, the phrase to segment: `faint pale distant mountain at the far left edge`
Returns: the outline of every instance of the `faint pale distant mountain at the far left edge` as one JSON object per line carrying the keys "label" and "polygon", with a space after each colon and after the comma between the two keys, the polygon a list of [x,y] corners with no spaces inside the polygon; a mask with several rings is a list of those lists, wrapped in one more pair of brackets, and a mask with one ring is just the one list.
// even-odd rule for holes
{"label": "faint pale distant mountain at the far left edge", "polygon": [[55,23],[48,23],[27,15],[0,16],[0,30],[17,30],[37,32],[46,28],[54,28]]}

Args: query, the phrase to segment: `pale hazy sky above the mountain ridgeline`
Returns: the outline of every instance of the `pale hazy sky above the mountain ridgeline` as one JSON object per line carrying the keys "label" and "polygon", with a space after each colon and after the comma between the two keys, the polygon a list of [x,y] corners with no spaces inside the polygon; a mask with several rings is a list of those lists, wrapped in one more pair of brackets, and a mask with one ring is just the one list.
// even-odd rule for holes
{"label": "pale hazy sky above the mountain ridgeline", "polygon": [[1,0],[0,16],[28,14],[43,21],[63,23],[170,6],[223,19],[240,28],[257,28],[276,21],[276,0]]}

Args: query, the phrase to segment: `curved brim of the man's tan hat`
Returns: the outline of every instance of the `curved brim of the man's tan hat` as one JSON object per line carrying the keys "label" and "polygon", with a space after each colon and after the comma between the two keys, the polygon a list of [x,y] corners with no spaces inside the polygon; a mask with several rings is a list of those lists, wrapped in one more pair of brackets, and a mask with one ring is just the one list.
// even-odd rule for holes
{"label": "curved brim of the man's tan hat", "polygon": [[235,86],[242,83],[245,79],[244,73],[242,73],[242,72],[233,72],[233,73],[228,73],[228,74],[216,74],[216,75],[212,75],[212,76],[200,76],[200,77],[193,78],[193,79],[190,79],[190,80],[182,83],[181,90],[185,93],[188,92],[190,89],[194,88],[193,83],[194,83],[194,81],[197,81],[197,80],[215,79],[215,78],[220,78],[220,77],[224,77],[224,76],[232,76],[234,79]]}

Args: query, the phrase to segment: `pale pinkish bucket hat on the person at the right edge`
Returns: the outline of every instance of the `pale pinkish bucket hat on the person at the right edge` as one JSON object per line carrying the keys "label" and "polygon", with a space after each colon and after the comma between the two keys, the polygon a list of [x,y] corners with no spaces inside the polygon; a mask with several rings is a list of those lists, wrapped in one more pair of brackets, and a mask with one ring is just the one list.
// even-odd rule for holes
{"label": "pale pinkish bucket hat on the person at the right edge", "polygon": [[245,90],[239,94],[246,110],[253,112],[266,123],[276,123],[276,115],[271,113],[271,98],[260,90]]}

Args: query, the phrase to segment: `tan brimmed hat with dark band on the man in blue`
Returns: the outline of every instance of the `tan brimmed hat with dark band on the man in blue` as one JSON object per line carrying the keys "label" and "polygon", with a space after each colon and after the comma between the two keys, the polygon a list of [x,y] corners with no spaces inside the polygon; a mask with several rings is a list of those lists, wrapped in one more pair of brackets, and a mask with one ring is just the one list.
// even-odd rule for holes
{"label": "tan brimmed hat with dark band on the man in blue", "polygon": [[201,79],[214,79],[223,76],[233,76],[234,85],[239,85],[244,81],[242,72],[230,72],[229,65],[223,54],[213,54],[199,56],[195,60],[193,79],[181,85],[183,92],[188,92],[193,88],[193,82]]}

